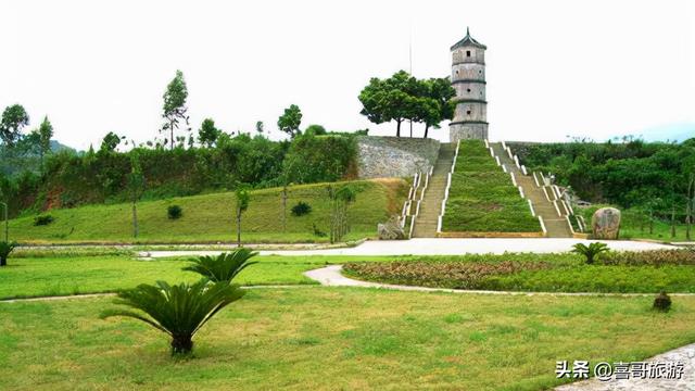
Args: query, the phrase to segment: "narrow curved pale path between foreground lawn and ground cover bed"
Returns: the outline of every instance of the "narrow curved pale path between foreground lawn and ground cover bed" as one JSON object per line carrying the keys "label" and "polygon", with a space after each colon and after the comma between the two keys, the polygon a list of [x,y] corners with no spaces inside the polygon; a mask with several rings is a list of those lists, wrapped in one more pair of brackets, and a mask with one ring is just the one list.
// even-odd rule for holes
{"label": "narrow curved pale path between foreground lawn and ground cover bed", "polygon": [[[491,291],[491,290],[464,290],[447,288],[427,288],[401,286],[392,283],[369,282],[352,279],[342,275],[342,265],[331,265],[304,273],[304,276],[318,281],[326,287],[362,287],[381,288],[401,291],[416,292],[446,292],[470,294],[508,294],[508,295],[554,295],[554,297],[654,297],[655,293],[597,293],[597,292],[518,292],[518,291]],[[669,293],[672,297],[688,297],[695,293]]]}

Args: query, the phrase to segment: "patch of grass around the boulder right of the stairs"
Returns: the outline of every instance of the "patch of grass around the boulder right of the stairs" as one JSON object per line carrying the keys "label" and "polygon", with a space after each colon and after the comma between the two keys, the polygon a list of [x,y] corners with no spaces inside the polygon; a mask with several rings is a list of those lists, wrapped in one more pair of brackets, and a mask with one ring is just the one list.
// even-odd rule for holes
{"label": "patch of grass around the boulder right of the stairs", "polygon": [[[587,207],[574,206],[574,212],[584,216],[587,230],[591,231],[591,217],[599,207],[612,206],[607,204],[596,204]],[[615,206],[614,206],[615,207]],[[620,209],[620,207],[618,207]],[[653,231],[649,232],[648,216],[634,210],[621,210],[620,239],[652,239],[659,241],[687,241],[685,237],[685,224],[677,223],[675,237],[671,237],[671,223],[660,219],[654,222]],[[693,226],[692,238],[695,239],[695,225]]]}

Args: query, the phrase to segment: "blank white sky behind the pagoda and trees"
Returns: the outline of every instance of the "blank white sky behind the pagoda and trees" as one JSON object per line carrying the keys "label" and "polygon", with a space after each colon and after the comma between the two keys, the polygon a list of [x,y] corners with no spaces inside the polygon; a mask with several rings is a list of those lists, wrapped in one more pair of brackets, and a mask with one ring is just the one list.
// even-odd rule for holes
{"label": "blank white sky behind the pagoda and trees", "polygon": [[48,114],[79,149],[144,141],[179,68],[194,129],[261,119],[277,138],[296,103],[303,127],[393,135],[359,115],[361,89],[408,68],[410,35],[415,76],[447,76],[466,26],[488,46],[491,139],[695,129],[695,5],[667,0],[0,0],[0,106],[23,104],[31,127]]}

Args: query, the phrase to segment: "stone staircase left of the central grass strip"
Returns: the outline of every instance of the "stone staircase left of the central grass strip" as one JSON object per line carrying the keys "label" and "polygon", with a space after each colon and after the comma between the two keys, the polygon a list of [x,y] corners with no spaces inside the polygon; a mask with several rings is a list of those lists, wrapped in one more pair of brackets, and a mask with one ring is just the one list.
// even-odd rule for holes
{"label": "stone staircase left of the central grass strip", "polygon": [[435,238],[439,214],[442,211],[442,200],[446,190],[446,180],[454,163],[456,153],[455,143],[442,143],[439,156],[432,171],[432,176],[425,190],[425,197],[420,202],[420,212],[415,219],[413,238]]}

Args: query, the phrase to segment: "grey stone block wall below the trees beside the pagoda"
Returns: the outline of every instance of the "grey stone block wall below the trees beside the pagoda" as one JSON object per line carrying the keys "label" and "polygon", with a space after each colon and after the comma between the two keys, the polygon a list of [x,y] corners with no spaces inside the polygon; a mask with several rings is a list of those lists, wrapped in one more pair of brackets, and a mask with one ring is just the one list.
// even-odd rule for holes
{"label": "grey stone block wall below the trees beside the pagoda", "polygon": [[437,163],[439,147],[439,141],[432,139],[358,137],[358,175],[361,178],[388,178],[427,172]]}

